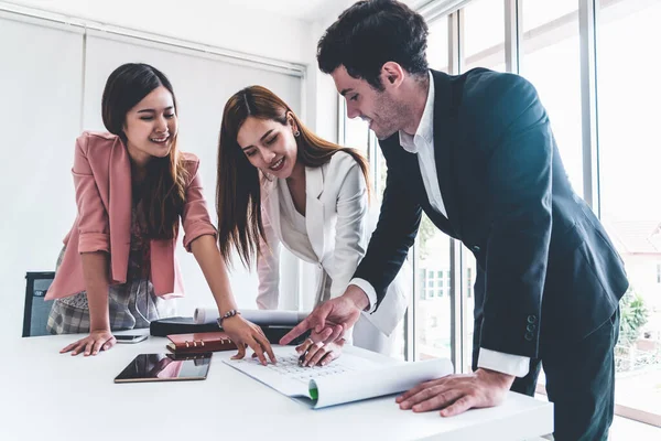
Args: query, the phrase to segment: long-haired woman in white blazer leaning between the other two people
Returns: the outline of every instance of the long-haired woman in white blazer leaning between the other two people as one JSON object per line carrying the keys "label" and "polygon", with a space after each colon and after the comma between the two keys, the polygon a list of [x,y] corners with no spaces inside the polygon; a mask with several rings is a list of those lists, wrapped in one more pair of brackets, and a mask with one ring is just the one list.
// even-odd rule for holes
{"label": "long-haired woman in white blazer leaning between the other two people", "polygon": [[[263,87],[245,88],[225,106],[216,195],[223,256],[229,260],[236,248],[246,265],[257,258],[258,308],[278,308],[280,244],[317,266],[315,305],[351,282],[372,230],[367,162],[316,137]],[[390,352],[408,304],[404,287],[400,275],[383,300],[390,305],[362,314],[354,344]],[[307,351],[307,365],[326,364],[342,349],[317,340],[313,334],[297,348]]]}

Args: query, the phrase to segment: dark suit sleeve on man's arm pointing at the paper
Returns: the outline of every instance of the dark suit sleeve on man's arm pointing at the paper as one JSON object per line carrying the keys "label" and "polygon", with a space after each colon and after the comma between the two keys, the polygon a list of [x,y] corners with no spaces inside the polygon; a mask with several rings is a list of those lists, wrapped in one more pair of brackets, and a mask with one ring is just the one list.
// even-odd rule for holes
{"label": "dark suit sleeve on man's arm pointing at the paper", "polygon": [[[421,216],[420,204],[412,200],[400,178],[389,171],[377,228],[371,235],[365,258],[354,273],[354,278],[362,279],[373,287],[377,294],[376,308],[407,259],[409,248],[415,240]],[[370,308],[370,311],[373,312],[376,308]]]}

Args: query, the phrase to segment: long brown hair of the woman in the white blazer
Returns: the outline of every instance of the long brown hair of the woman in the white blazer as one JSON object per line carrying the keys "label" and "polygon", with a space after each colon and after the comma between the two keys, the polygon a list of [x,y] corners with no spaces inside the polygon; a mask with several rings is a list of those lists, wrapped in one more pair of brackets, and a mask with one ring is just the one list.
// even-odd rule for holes
{"label": "long brown hair of the woman in the white blazer", "polygon": [[254,168],[237,142],[239,129],[254,117],[271,119],[284,126],[293,118],[297,130],[297,161],[305,166],[322,166],[338,151],[350,154],[365,175],[369,192],[369,168],[356,150],[328,142],[301,123],[292,109],[266,87],[250,86],[228,99],[223,112],[218,146],[218,174],[216,211],[218,214],[218,246],[223,258],[229,262],[232,247],[241,261],[250,266],[260,252],[259,239],[266,240],[261,217],[261,182]]}

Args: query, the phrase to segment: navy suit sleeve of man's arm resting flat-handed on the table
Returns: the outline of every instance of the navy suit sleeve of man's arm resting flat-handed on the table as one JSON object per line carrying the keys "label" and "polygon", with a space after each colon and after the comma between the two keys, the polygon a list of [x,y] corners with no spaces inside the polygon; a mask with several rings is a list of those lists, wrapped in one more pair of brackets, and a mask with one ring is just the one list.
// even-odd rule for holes
{"label": "navy suit sleeve of man's arm resting flat-handed on the table", "polygon": [[538,356],[542,292],[552,222],[553,136],[537,92],[525,79],[498,75],[476,137],[489,146],[486,170],[491,229],[480,347]]}

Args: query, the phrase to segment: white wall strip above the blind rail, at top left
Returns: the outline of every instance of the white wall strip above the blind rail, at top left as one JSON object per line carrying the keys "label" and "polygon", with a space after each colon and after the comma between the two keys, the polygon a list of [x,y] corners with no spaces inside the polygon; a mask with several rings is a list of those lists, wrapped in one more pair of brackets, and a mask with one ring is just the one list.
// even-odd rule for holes
{"label": "white wall strip above the blind rail, at top left", "polygon": [[[277,1],[277,0],[273,0]],[[210,44],[293,63],[308,60],[310,24],[225,0],[12,0],[98,23]]]}

